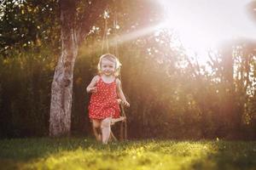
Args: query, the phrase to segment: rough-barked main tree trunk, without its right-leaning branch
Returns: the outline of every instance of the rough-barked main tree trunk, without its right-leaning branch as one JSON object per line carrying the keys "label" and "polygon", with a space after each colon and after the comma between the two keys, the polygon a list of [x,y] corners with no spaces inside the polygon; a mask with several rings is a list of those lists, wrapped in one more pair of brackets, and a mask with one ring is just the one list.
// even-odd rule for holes
{"label": "rough-barked main tree trunk, without its right-leaning branch", "polygon": [[60,1],[61,56],[51,86],[49,136],[68,136],[71,125],[73,66],[78,54],[76,30],[73,25],[75,4]]}

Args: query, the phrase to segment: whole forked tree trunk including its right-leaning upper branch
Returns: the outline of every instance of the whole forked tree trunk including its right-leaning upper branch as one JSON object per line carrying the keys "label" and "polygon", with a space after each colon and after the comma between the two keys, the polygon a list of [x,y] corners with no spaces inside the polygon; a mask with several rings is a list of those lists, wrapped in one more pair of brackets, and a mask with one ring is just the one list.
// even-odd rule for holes
{"label": "whole forked tree trunk including its right-leaning upper branch", "polygon": [[[90,32],[90,27],[106,8],[107,0],[94,0],[80,19],[76,6],[80,1],[59,0],[61,8],[61,56],[55,68],[51,86],[49,136],[67,136],[71,126],[73,94],[73,66],[79,44]],[[78,36],[79,35],[79,36]]]}

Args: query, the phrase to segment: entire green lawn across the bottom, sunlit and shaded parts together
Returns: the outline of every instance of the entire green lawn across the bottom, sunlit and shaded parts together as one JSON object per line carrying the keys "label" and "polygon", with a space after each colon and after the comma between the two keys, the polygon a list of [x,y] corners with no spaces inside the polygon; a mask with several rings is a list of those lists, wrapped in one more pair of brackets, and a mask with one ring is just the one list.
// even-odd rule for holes
{"label": "entire green lawn across the bottom, sunlit and shaded parts together", "polygon": [[256,142],[3,139],[0,169],[256,169]]}

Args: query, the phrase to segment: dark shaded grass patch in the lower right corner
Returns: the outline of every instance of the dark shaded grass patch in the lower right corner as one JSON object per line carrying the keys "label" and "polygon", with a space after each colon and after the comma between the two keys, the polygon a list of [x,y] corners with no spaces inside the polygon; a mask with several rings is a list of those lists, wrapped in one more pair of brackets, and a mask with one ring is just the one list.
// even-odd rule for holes
{"label": "dark shaded grass patch in the lower right corner", "polygon": [[219,141],[210,147],[206,156],[191,163],[192,169],[256,169],[256,142]]}

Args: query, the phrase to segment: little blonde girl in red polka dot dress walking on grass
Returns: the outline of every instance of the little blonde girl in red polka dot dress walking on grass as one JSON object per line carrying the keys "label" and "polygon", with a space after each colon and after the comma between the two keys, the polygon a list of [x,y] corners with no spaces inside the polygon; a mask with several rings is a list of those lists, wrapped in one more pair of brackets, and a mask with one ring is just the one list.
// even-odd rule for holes
{"label": "little blonde girl in red polka dot dress walking on grass", "polygon": [[99,75],[93,77],[86,88],[87,93],[92,93],[89,117],[96,139],[102,144],[108,144],[111,121],[120,115],[119,104],[130,106],[118,78],[120,66],[113,54],[103,54],[97,66]]}

